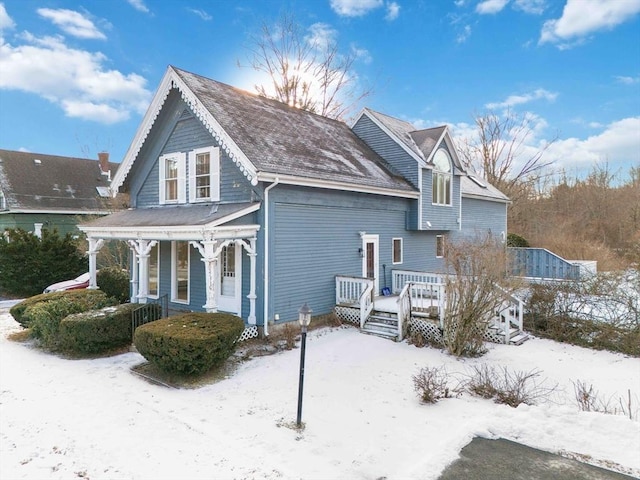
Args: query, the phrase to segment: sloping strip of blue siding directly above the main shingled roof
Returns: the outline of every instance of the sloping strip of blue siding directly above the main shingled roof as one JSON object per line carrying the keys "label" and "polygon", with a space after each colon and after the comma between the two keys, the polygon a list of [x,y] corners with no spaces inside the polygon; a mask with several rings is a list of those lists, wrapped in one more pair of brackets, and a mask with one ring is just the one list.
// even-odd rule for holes
{"label": "sloping strip of blue siding directly above the main shingled roof", "polygon": [[398,143],[391,139],[369,117],[363,115],[352,128],[374,152],[384,158],[393,169],[419,188],[418,165]]}

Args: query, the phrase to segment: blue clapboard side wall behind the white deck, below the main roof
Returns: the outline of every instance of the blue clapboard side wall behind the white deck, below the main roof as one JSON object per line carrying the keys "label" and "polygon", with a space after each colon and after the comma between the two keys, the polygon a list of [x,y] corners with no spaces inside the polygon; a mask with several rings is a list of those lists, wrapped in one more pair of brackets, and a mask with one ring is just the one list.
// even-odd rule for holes
{"label": "blue clapboard side wall behind the white deck, below the main roof", "polygon": [[[379,236],[380,288],[391,286],[393,269],[442,269],[435,233],[405,228],[410,200],[288,186],[272,190],[272,200],[269,320],[294,320],[305,302],[314,315],[331,312],[335,276],[362,276],[360,232]],[[403,239],[399,265],[392,265],[393,238]]]}

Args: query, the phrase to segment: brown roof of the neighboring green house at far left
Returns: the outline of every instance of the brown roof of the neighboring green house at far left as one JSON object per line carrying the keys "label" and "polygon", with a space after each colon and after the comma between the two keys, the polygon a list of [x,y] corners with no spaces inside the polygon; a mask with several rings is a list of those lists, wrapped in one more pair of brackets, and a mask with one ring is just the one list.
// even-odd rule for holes
{"label": "brown roof of the neighboring green house at far left", "polygon": [[0,150],[5,212],[106,214],[109,178],[97,160]]}

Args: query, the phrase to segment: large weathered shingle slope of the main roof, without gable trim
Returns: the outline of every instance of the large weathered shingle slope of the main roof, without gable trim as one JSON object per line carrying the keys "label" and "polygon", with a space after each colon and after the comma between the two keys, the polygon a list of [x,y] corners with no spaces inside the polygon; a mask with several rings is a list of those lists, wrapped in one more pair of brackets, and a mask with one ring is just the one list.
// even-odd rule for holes
{"label": "large weathered shingle slope of the main roof, without gable trim", "polygon": [[172,68],[259,173],[415,192],[343,122]]}

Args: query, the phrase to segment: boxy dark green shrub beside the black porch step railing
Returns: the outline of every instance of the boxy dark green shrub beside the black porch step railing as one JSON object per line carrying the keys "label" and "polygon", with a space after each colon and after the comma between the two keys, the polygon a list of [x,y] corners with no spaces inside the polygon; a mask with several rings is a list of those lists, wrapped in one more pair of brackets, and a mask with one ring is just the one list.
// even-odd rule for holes
{"label": "boxy dark green shrub beside the black porch step railing", "polygon": [[68,315],[60,322],[62,350],[94,354],[131,344],[131,311],[140,305],[121,305]]}

